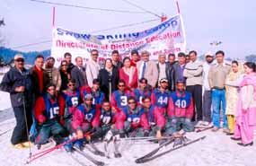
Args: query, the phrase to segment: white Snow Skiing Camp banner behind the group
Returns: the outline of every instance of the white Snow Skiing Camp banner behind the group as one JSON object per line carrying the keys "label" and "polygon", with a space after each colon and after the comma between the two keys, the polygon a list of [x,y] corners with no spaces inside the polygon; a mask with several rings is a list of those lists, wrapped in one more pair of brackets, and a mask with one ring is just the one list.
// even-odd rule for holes
{"label": "white Snow Skiing Camp banner behind the group", "polygon": [[176,15],[151,29],[130,33],[93,35],[58,27],[52,31],[51,56],[57,59],[57,64],[66,52],[72,54],[73,60],[78,56],[88,60],[92,49],[99,50],[100,61],[110,57],[113,50],[119,50],[122,57],[130,56],[133,49],[138,52],[147,50],[151,53],[152,60],[156,60],[159,54],[184,52],[186,40],[181,15]]}

